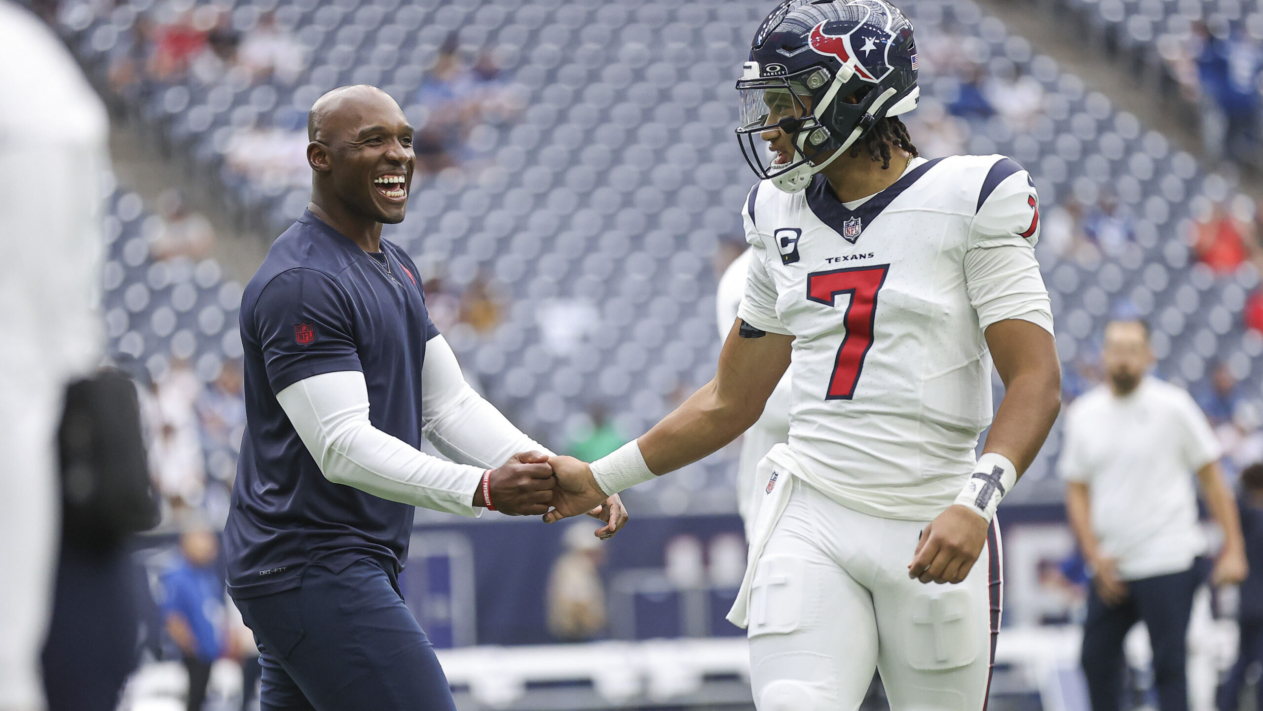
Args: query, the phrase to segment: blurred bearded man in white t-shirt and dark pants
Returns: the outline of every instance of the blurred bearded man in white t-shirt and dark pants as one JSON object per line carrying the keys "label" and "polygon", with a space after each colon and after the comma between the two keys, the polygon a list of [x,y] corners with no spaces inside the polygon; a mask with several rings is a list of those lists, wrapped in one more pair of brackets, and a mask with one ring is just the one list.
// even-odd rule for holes
{"label": "blurred bearded man in white t-shirt and dark pants", "polygon": [[1148,327],[1110,322],[1101,355],[1106,384],[1067,409],[1058,461],[1066,514],[1092,572],[1082,648],[1089,696],[1092,711],[1120,708],[1123,638],[1144,621],[1158,708],[1185,711],[1186,634],[1201,583],[1195,563],[1206,552],[1192,474],[1224,530],[1214,585],[1247,573],[1236,505],[1206,415],[1188,393],[1147,375]]}

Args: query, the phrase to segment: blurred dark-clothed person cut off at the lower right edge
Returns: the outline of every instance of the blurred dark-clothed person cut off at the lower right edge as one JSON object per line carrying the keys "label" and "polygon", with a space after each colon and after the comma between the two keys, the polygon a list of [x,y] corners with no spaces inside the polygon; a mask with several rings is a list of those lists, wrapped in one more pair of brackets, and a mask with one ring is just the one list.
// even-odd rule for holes
{"label": "blurred dark-clothed person cut off at the lower right edge", "polygon": [[[1242,493],[1236,499],[1242,533],[1245,537],[1245,558],[1250,572],[1242,581],[1236,611],[1240,628],[1236,663],[1219,687],[1219,711],[1240,707],[1242,688],[1250,667],[1263,663],[1263,462],[1242,471]],[[1255,708],[1263,708],[1263,683],[1254,686]]]}

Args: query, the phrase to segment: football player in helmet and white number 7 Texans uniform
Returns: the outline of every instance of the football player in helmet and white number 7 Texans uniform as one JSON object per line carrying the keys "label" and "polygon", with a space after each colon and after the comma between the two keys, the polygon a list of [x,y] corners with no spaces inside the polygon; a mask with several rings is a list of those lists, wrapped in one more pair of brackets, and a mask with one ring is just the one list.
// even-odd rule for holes
{"label": "football player in helmet and white number 7 Texans uniform", "polygon": [[551,460],[557,520],[733,441],[791,369],[788,443],[759,465],[729,614],[760,711],[858,708],[874,669],[895,711],[985,707],[995,508],[1061,407],[1033,181],[1002,155],[917,155],[898,119],[919,95],[916,52],[883,0],[768,15],[736,85],[760,181],[717,374],[608,457]]}

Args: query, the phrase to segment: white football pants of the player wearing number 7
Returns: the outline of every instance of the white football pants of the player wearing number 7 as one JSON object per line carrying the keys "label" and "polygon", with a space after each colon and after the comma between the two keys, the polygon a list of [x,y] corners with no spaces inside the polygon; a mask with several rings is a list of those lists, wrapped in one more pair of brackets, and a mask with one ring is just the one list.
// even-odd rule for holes
{"label": "white football pants of the player wearing number 7", "polygon": [[908,565],[928,522],[883,519],[793,479],[750,597],[759,711],[854,711],[874,668],[892,711],[981,711],[1000,621],[1000,541],[957,585]]}

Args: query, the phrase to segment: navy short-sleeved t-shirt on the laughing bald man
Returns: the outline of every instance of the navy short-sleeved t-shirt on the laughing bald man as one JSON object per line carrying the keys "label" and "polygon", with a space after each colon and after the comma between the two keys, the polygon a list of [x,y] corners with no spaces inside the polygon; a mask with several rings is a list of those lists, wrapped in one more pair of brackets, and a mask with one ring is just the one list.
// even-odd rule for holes
{"label": "navy short-sleeved t-shirt on the laughing bald man", "polygon": [[246,427],[224,529],[234,597],[297,587],[311,563],[341,572],[370,557],[398,571],[407,557],[413,506],[325,479],[277,402],[306,378],[360,370],[373,426],[421,445],[421,369],[438,331],[417,265],[386,240],[381,253],[304,212],[241,296]]}

